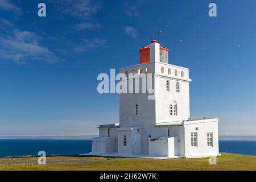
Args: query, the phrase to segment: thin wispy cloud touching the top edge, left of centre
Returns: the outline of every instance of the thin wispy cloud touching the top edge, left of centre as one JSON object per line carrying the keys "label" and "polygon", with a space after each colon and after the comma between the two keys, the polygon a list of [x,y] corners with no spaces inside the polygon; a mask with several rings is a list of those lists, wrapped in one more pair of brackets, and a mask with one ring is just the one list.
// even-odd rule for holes
{"label": "thin wispy cloud touching the top edge, left of centre", "polygon": [[70,14],[81,19],[89,18],[101,8],[99,3],[90,0],[57,0],[55,4],[61,13]]}

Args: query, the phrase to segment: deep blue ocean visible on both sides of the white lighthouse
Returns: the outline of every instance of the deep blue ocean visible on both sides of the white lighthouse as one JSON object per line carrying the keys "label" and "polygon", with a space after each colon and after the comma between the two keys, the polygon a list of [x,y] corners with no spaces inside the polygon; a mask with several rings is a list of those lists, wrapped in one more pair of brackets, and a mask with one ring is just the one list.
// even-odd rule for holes
{"label": "deep blue ocean visible on both sides of the white lighthouse", "polygon": [[[220,152],[256,155],[256,141],[219,141]],[[82,139],[0,139],[0,158],[6,156],[86,154],[92,150],[92,140]]]}

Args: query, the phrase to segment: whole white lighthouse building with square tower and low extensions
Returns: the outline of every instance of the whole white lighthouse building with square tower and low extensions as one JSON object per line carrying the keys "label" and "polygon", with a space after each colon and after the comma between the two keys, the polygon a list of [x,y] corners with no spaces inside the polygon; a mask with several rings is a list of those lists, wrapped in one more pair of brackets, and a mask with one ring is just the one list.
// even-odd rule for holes
{"label": "whole white lighthouse building with square tower and low extensions", "polygon": [[[90,155],[219,155],[218,119],[190,119],[189,69],[168,64],[169,50],[156,40],[139,52],[140,64],[120,69],[129,74],[122,82],[127,82],[127,87],[130,82],[134,86],[134,80],[149,79],[147,75],[151,73],[154,99],[149,97],[152,93],[121,93],[119,123],[98,126],[99,137],[93,138]],[[136,73],[137,77],[130,77]]]}

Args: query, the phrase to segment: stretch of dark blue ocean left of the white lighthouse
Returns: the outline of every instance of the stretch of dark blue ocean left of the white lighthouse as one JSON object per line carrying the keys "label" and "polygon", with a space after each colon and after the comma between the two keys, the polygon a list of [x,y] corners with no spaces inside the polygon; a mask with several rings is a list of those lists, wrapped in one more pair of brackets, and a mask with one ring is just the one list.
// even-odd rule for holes
{"label": "stretch of dark blue ocean left of the white lighthouse", "polygon": [[0,139],[0,158],[6,156],[76,155],[92,151],[92,140],[71,139]]}

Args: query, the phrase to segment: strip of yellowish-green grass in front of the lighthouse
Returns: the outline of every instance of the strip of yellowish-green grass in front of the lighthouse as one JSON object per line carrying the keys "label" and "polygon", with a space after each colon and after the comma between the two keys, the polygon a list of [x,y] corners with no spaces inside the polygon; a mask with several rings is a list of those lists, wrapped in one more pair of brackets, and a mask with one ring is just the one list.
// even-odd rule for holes
{"label": "strip of yellowish-green grass in front of the lighthouse", "polygon": [[138,159],[98,156],[47,156],[47,164],[38,158],[3,158],[0,170],[256,170],[256,156],[221,153],[217,164],[200,159]]}

